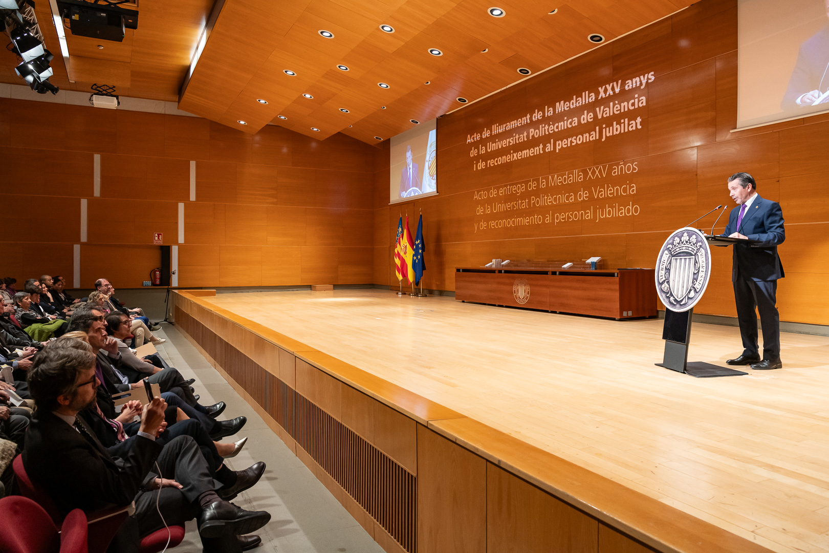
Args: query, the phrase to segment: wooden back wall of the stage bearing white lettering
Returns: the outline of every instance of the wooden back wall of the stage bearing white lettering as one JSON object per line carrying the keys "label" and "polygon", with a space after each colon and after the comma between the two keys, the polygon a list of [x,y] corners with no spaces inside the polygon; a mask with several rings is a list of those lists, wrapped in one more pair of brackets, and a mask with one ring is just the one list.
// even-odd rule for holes
{"label": "wooden back wall of the stage bearing white lettering", "polygon": [[[454,290],[454,269],[486,264],[492,258],[585,260],[601,255],[604,268],[653,267],[662,242],[672,230],[685,226],[711,208],[734,207],[727,178],[751,173],[759,194],[783,207],[787,240],[779,252],[786,278],[781,281],[778,307],[784,320],[829,324],[829,310],[807,299],[816,279],[829,278],[819,259],[804,268],[802,255],[829,247],[822,225],[829,222],[826,178],[829,177],[827,136],[823,115],[758,129],[731,133],[736,123],[737,0],[703,0],[618,41],[589,51],[564,65],[535,75],[438,119],[439,195],[387,207],[387,166],[377,162],[374,193],[374,279],[397,286],[392,259],[400,214],[424,215],[426,271],[429,289]],[[598,8],[597,8],[598,9]],[[528,56],[530,61],[533,56]],[[645,75],[645,85],[633,79]],[[631,87],[626,84],[631,80]],[[613,95],[605,85],[618,83]],[[604,91],[604,93],[603,93]],[[595,95],[594,101],[556,111],[558,102]],[[603,97],[604,96],[604,97]],[[597,108],[644,98],[644,104],[599,119]],[[551,110],[551,114],[547,110]],[[593,114],[594,119],[581,119]],[[541,124],[576,117],[570,129],[534,137]],[[473,140],[475,133],[495,124],[528,118],[502,133]],[[556,151],[557,141],[625,118],[641,120],[641,128],[576,144]],[[525,142],[488,150],[497,139],[527,133]],[[552,143],[552,151],[546,148]],[[475,165],[496,160],[510,151],[541,145],[544,152],[492,167]],[[473,148],[484,148],[483,153]],[[382,155],[387,155],[385,151]],[[606,167],[604,167],[606,164]],[[614,175],[613,167],[636,170]],[[595,177],[595,167],[608,170]],[[591,174],[592,173],[592,174]],[[573,182],[549,183],[550,175],[581,175]],[[501,195],[508,185],[532,191]],[[630,185],[635,192],[600,196],[599,190]],[[476,193],[496,196],[476,199]],[[588,192],[579,200],[579,192]],[[565,197],[573,193],[573,198]],[[549,205],[497,204],[550,194]],[[539,202],[541,203],[541,202]],[[617,204],[638,213],[620,216]],[[503,207],[503,206],[502,206]],[[600,210],[610,207],[611,216]],[[484,210],[478,212],[478,208]],[[487,209],[490,212],[487,213]],[[576,221],[555,221],[555,214],[579,211]],[[585,212],[587,215],[582,216]],[[541,216],[538,221],[510,226],[511,218]],[[550,220],[547,217],[550,216]],[[482,228],[481,223],[497,223]],[[696,223],[710,229],[715,214]],[[727,215],[717,230],[725,228]],[[416,221],[410,221],[414,231]],[[386,250],[388,248],[388,250]],[[730,251],[712,252],[715,274],[696,311],[734,316],[730,282]],[[822,258],[821,258],[822,259]],[[788,267],[797,267],[789,270]]]}

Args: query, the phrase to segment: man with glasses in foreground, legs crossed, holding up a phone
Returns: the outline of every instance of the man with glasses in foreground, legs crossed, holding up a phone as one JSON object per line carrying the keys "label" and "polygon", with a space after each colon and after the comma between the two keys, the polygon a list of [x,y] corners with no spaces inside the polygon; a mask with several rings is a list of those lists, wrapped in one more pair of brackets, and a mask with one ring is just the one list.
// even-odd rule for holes
{"label": "man with glasses in foreground, legs crossed, holding up a phone", "polygon": [[[29,371],[38,410],[22,460],[32,481],[49,493],[63,514],[73,508],[90,512],[134,501],[133,516],[121,526],[109,551],[138,551],[141,537],[165,523],[182,525],[196,517],[198,531],[207,540],[240,536],[270,520],[268,512],[245,511],[221,499],[196,440],[180,435],[164,445],[157,443],[167,408],[162,398],[143,407],[138,434],[111,454],[78,416],[95,401],[95,354],[62,347],[61,342],[66,341],[44,348]],[[242,539],[243,546],[259,542],[254,536]]]}

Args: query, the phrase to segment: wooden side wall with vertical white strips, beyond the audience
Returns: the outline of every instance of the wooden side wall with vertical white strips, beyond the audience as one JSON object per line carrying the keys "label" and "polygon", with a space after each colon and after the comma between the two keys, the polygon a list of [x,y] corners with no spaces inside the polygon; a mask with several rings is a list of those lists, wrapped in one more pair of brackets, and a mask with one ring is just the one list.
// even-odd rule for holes
{"label": "wooden side wall with vertical white strips, beyond the audience", "polygon": [[[3,247],[31,242],[70,252],[68,268],[61,260],[48,269],[46,260],[30,274],[32,265],[12,259],[5,270],[20,281],[71,275],[85,198],[90,246],[147,252],[138,262],[109,256],[111,272],[97,262],[85,266],[90,258],[82,256],[82,274],[117,275],[121,287],[140,287],[159,266],[144,267],[149,252],[158,257],[158,232],[163,244],[181,246],[182,286],[371,284],[376,148],[343,135],[300,137],[272,125],[250,136],[193,117],[0,99],[0,201],[27,206],[7,215]],[[60,223],[42,224],[43,214]]]}

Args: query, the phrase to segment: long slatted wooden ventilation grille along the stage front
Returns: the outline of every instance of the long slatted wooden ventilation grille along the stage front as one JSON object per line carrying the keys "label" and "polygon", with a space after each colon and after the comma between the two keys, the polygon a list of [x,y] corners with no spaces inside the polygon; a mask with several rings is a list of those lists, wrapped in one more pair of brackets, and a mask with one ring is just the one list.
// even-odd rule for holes
{"label": "long slatted wooden ventilation grille along the stage front", "polygon": [[417,478],[176,306],[176,324],[400,546],[416,550]]}

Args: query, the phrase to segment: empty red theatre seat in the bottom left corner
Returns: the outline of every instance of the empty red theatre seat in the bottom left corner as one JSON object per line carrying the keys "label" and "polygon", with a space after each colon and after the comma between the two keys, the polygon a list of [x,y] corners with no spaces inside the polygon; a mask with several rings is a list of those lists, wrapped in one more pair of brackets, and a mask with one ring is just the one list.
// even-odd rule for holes
{"label": "empty red theatre seat in the bottom left corner", "polygon": [[0,499],[0,553],[87,553],[86,515],[70,512],[58,533],[49,514],[28,497]]}

